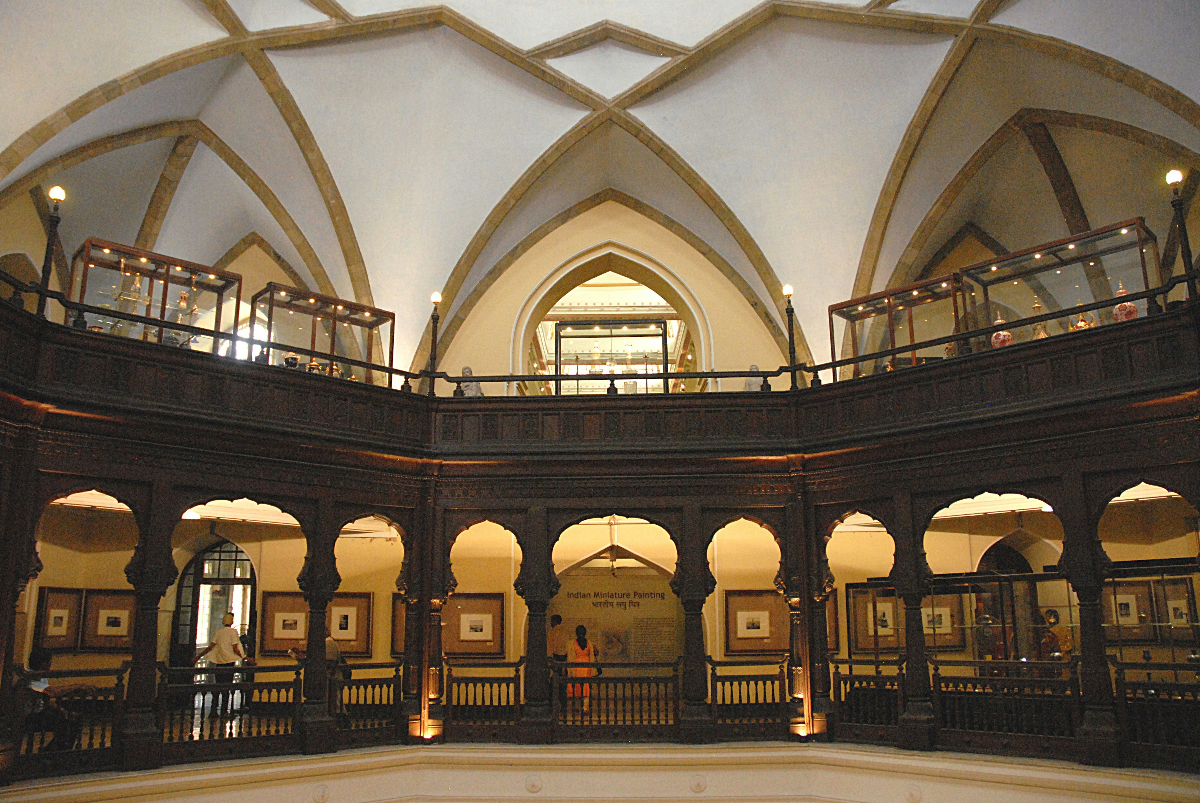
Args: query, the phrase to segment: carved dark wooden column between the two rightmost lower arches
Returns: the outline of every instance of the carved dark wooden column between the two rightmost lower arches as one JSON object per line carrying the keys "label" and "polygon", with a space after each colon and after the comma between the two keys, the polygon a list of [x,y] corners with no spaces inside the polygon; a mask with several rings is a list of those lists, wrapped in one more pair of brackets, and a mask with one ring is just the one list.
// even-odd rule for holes
{"label": "carved dark wooden column between the two rightmost lower arches", "polygon": [[1091,524],[1084,478],[1079,473],[1066,476],[1063,491],[1062,506],[1055,508],[1063,529],[1058,567],[1079,597],[1079,686],[1084,719],[1075,729],[1076,755],[1081,763],[1116,767],[1122,763],[1121,730],[1114,710],[1100,609],[1100,591],[1112,562]]}

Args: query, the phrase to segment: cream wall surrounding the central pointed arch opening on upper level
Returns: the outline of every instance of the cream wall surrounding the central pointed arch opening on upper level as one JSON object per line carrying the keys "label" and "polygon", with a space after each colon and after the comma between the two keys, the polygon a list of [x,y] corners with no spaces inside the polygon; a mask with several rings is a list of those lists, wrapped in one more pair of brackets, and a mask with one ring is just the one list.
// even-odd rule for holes
{"label": "cream wall surrounding the central pointed arch opening on upper level", "polygon": [[[707,319],[712,331],[709,354],[700,354],[703,369],[734,370],[751,363],[774,369],[786,362],[750,304],[712,262],[656,223],[608,201],[559,227],[517,259],[463,321],[440,358],[442,368],[458,373],[470,366],[480,375],[524,373],[528,367],[512,358],[514,321],[527,302],[536,301],[530,292],[557,267],[607,241],[650,255],[686,283],[701,304],[694,310],[696,316]],[[528,344],[517,346],[523,360]],[[734,385],[727,390],[739,390],[742,380]],[[499,396],[502,391],[486,386],[484,392]]]}

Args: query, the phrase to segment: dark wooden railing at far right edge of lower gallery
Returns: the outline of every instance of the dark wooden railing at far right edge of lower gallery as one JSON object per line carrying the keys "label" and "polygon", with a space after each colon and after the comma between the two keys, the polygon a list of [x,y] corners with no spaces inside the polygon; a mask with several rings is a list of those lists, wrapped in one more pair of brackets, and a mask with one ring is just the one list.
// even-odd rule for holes
{"label": "dark wooden railing at far right edge of lower gallery", "polygon": [[1129,759],[1200,772],[1200,663],[1109,662]]}

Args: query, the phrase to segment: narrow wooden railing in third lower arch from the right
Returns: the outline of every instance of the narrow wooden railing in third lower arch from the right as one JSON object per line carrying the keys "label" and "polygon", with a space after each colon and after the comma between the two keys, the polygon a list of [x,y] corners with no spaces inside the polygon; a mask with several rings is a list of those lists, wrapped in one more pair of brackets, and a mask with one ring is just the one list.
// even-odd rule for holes
{"label": "narrow wooden railing in third lower arch from the right", "polygon": [[[904,710],[904,659],[830,659],[835,738],[888,741]],[[841,668],[846,666],[845,674]],[[856,670],[869,670],[862,674]]]}

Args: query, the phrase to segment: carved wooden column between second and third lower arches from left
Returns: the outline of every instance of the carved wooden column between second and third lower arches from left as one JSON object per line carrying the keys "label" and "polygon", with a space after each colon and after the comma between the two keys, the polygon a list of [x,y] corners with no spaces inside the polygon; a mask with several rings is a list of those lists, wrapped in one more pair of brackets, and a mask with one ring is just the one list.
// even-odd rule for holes
{"label": "carved wooden column between second and third lower arches from left", "polygon": [[296,578],[308,603],[304,705],[300,707],[300,739],[305,753],[337,749],[337,724],[329,713],[329,665],[325,660],[325,611],[342,585],[334,556],[337,533],[332,505],[323,499],[317,506],[316,526],[305,529],[308,551]]}

